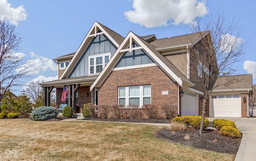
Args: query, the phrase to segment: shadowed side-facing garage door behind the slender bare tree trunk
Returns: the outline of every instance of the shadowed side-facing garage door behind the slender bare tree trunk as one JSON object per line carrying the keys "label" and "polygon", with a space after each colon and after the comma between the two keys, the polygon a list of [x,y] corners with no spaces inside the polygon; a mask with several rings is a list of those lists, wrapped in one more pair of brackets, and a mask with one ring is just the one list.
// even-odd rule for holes
{"label": "shadowed side-facing garage door behind the slender bare tree trunk", "polygon": [[195,93],[184,91],[184,94],[181,97],[181,115],[198,115],[198,101]]}

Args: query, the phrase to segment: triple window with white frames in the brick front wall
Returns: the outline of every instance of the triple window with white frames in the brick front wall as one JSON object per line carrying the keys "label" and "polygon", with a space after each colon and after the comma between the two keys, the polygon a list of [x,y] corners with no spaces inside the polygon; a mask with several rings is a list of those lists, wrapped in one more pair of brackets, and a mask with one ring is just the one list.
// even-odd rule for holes
{"label": "triple window with white frames in the brick front wall", "polygon": [[151,85],[118,88],[118,104],[138,105],[151,104]]}

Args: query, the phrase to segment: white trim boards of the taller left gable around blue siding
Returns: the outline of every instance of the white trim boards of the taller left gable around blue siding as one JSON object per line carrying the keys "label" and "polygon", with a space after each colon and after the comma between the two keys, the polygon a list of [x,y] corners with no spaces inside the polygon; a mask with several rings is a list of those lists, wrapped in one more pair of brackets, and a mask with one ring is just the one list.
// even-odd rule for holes
{"label": "white trim boards of the taller left gable around blue siding", "polygon": [[[97,33],[97,27],[102,31],[100,33]],[[92,34],[93,33],[93,34]],[[118,48],[119,45],[118,43],[108,34],[108,32],[106,32],[106,30],[104,30],[102,28],[102,26],[98,23],[98,22],[94,22],[94,24],[92,25],[91,29],[89,30],[88,34],[85,36],[83,42],[81,43],[81,45],[79,46],[78,50],[76,51],[76,53],[74,54],[72,60],[70,61],[68,67],[64,70],[64,72],[62,73],[62,75],[60,76],[59,80],[66,78],[70,72],[72,72],[72,70],[74,69],[74,67],[76,66],[76,63],[78,62],[78,60],[80,60],[82,54],[84,53],[84,51],[86,50],[86,48],[88,47],[88,44],[90,44],[90,42],[88,43],[88,38],[92,37],[92,36],[97,36],[100,34],[105,34],[105,36]],[[87,46],[86,46],[87,43]]]}

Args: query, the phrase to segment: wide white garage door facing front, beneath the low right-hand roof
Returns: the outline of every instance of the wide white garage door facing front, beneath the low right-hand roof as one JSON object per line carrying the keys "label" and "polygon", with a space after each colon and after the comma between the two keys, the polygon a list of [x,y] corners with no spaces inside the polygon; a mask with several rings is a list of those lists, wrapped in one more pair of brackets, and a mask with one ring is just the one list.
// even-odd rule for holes
{"label": "wide white garage door facing front, beneath the low right-hand roof", "polygon": [[211,95],[210,117],[241,117],[241,96]]}

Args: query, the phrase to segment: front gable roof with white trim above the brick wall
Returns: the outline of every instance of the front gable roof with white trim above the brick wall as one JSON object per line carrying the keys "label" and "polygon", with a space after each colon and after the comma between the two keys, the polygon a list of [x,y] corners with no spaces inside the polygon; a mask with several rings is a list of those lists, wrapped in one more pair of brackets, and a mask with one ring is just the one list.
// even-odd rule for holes
{"label": "front gable roof with white trim above the brick wall", "polygon": [[112,58],[110,58],[108,64],[99,74],[99,76],[96,78],[96,80],[90,87],[90,90],[92,90],[94,87],[99,87],[103,83],[103,81],[106,79],[108,74],[110,74],[110,72],[114,70],[114,66],[116,62],[120,60],[120,58],[122,57],[125,51],[132,50],[131,48],[129,49],[125,48],[125,45],[128,44],[129,41],[131,43],[132,39],[139,46],[137,47],[137,49],[143,49],[148,54],[148,56],[150,56],[150,58],[154,60],[156,65],[158,65],[162,70],[164,70],[164,72],[166,72],[166,74],[168,74],[168,76],[170,76],[172,80],[176,81],[179,85],[182,85],[182,81],[187,81],[191,85],[194,85],[193,83],[188,81],[186,76],[184,76],[184,74],[182,74],[180,70],[178,70],[162,54],[160,54],[153,45],[149,44],[148,42],[146,42],[144,39],[140,38],[133,32],[129,32],[126,38],[124,39],[124,41],[122,42],[122,44],[119,46],[119,48],[116,50],[116,52],[112,56]]}

